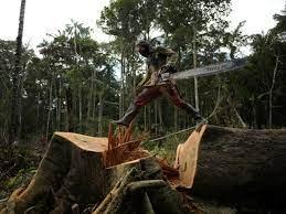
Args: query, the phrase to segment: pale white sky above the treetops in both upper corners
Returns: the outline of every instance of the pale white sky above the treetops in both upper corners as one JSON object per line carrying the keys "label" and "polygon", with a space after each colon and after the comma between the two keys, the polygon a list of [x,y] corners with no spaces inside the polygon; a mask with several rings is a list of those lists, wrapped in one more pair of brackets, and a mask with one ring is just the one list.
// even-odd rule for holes
{"label": "pale white sky above the treetops in both upper corners", "polygon": [[[94,29],[99,42],[110,40],[99,29],[96,20],[109,0],[27,0],[23,42],[35,47],[46,34],[56,34],[71,19]],[[0,39],[15,40],[21,0],[0,0]],[[275,25],[273,15],[280,13],[286,0],[232,0],[231,28],[246,20],[244,33],[262,33]]]}

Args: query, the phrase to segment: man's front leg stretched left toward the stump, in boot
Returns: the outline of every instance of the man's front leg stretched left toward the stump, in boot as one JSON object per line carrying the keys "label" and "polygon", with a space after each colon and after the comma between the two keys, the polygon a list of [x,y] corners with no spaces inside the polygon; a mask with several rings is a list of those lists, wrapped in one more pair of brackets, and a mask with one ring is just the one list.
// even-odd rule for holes
{"label": "man's front leg stretched left toward the stump, in boot", "polygon": [[129,126],[135,116],[138,114],[139,109],[142,106],[149,104],[152,99],[157,98],[161,95],[161,92],[158,87],[147,87],[145,88],[135,99],[134,103],[130,104],[124,117],[119,120],[116,120],[115,124]]}

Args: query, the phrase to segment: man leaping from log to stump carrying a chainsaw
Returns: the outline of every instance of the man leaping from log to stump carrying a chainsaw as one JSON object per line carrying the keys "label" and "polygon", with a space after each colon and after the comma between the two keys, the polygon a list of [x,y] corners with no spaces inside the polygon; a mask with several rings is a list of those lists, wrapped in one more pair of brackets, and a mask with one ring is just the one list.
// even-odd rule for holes
{"label": "man leaping from log to stump carrying a chainsaw", "polygon": [[174,64],[178,61],[178,54],[171,49],[152,47],[147,41],[138,42],[135,50],[147,57],[147,74],[137,86],[137,92],[142,90],[130,104],[125,116],[115,124],[128,127],[142,106],[162,94],[167,94],[176,106],[190,114],[197,124],[204,121],[199,111],[181,98],[174,79],[169,78],[170,73],[177,72]]}

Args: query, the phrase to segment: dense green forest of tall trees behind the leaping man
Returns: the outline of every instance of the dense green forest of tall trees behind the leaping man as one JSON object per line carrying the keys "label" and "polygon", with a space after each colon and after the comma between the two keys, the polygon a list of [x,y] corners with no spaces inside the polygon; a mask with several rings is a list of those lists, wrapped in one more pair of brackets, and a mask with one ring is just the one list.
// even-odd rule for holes
{"label": "dense green forest of tall trees behind the leaping man", "polygon": [[[93,28],[71,20],[43,38],[36,49],[22,42],[24,8],[25,0],[21,0],[15,40],[0,38],[0,168],[8,169],[0,173],[0,188],[6,186],[0,199],[10,193],[8,189],[20,185],[19,178],[35,172],[42,147],[54,139],[55,131],[109,135],[109,124],[124,116],[146,73],[146,60],[135,52],[139,40],[176,51],[178,72],[246,57],[246,65],[240,69],[178,81],[181,96],[211,126],[253,130],[258,138],[264,135],[259,131],[286,127],[283,8],[273,14],[274,28],[248,35],[244,33],[247,20],[230,29],[231,0],[112,0],[95,23],[110,36],[109,42],[97,41]],[[135,132],[150,139],[195,126],[192,117],[166,97],[145,106],[135,124]],[[244,135],[246,138],[246,132],[240,137]],[[276,142],[277,135],[272,135]],[[29,143],[40,147],[41,151],[34,151],[40,158],[31,158],[30,149],[11,150],[11,146]],[[284,151],[285,146],[280,148]],[[11,180],[12,175],[15,179]],[[31,179],[28,176],[25,180]]]}

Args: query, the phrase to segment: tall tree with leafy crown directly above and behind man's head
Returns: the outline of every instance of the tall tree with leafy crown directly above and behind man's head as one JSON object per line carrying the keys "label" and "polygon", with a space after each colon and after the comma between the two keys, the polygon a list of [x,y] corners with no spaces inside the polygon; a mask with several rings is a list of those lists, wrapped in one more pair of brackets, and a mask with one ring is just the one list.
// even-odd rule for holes
{"label": "tall tree with leafy crown directly above and behind man's head", "polygon": [[[123,116],[128,95],[135,95],[136,69],[139,67],[134,53],[134,44],[137,38],[148,39],[150,29],[156,17],[157,2],[153,0],[116,0],[102,11],[98,25],[107,34],[115,36],[113,42],[116,46],[120,64],[120,106],[119,116]],[[126,97],[127,95],[127,97]]]}

